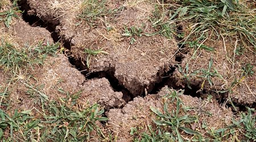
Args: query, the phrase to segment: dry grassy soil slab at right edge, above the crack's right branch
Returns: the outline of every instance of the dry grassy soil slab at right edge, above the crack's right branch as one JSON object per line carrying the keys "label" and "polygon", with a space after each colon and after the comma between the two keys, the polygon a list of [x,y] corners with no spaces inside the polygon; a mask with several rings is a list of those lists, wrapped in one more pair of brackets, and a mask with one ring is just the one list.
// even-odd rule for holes
{"label": "dry grassy soil slab at right edge, above the crack's right branch", "polygon": [[[224,43],[225,41],[225,43]],[[256,70],[256,55],[250,48],[243,50],[243,53],[237,55],[233,45],[236,43],[230,40],[207,40],[205,45],[213,47],[214,52],[207,52],[204,49],[193,48],[185,55],[181,66],[185,69],[188,64],[189,73],[200,71],[201,69],[208,69],[209,61],[213,60],[213,66],[210,72],[214,73],[214,76],[210,77],[213,85],[210,86],[208,80],[205,80],[204,89],[220,91],[229,90],[232,92],[229,94],[232,101],[239,104],[251,105],[256,101],[256,78],[254,74],[250,74],[251,71]],[[239,48],[239,47],[237,47]],[[197,50],[197,52],[195,52]],[[246,69],[246,65],[252,66],[252,68]],[[184,70],[183,70],[184,71]],[[176,72],[177,78],[180,78],[182,73]],[[202,72],[199,72],[197,76],[204,76]],[[191,83],[193,80],[201,81],[200,85],[204,82],[205,78],[191,76]],[[234,85],[234,84],[235,85]],[[233,84],[233,86],[232,86]]]}

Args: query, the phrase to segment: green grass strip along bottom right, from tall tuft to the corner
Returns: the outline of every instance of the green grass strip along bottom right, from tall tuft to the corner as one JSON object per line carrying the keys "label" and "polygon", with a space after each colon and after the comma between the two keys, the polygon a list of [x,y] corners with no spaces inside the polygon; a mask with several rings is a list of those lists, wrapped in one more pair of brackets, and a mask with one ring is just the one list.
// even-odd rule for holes
{"label": "green grass strip along bottom right, from tall tuft to the corner", "polygon": [[[193,117],[187,114],[187,111],[193,111],[183,105],[179,95],[183,91],[170,91],[170,94],[164,96],[163,112],[151,107],[151,111],[156,114],[157,118],[152,121],[156,127],[147,126],[147,132],[144,128],[131,128],[130,135],[134,141],[256,141],[256,111],[254,108],[247,108],[247,112],[241,112],[239,120],[234,120],[229,126],[215,129],[207,126],[199,117]],[[212,97],[208,98],[210,101]],[[175,104],[175,110],[168,110],[168,104]],[[211,115],[211,114],[209,114]],[[200,124],[199,131],[193,131],[190,126],[195,123]],[[184,139],[188,135],[193,135],[191,139]],[[188,137],[187,137],[188,138]]]}

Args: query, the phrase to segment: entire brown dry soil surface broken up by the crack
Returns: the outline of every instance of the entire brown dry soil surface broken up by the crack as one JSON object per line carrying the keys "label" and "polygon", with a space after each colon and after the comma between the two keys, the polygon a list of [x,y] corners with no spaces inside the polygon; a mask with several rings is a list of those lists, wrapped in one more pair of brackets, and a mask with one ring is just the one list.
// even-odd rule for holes
{"label": "entire brown dry soil surface broken up by the crack", "polygon": [[[2,1],[0,0],[0,2]],[[106,0],[101,6],[105,8],[104,12],[100,16],[96,15],[95,19],[86,16],[82,18],[82,11],[86,12],[84,10],[90,7],[90,3],[86,2],[88,1],[21,0],[19,1],[21,8],[28,10],[24,12],[24,21],[27,21],[27,17],[36,17],[38,21],[30,23],[30,25],[21,18],[13,18],[10,27],[6,27],[1,21],[0,32],[2,35],[0,38],[12,43],[17,49],[33,47],[39,43],[42,45],[53,44],[57,42],[56,39],[60,38],[60,47],[55,54],[48,55],[43,64],[21,70],[13,78],[9,76],[11,73],[4,72],[0,65],[0,93],[3,92],[4,87],[8,86],[6,94],[0,96],[1,112],[2,110],[6,111],[7,114],[13,116],[15,109],[18,109],[19,112],[32,110],[31,115],[35,116],[35,119],[43,121],[46,120],[43,117],[46,117],[49,112],[43,106],[54,102],[52,104],[60,105],[58,107],[61,109],[73,108],[77,112],[76,117],[79,118],[81,111],[98,103],[100,108],[106,110],[99,114],[98,119],[106,116],[109,120],[104,120],[101,123],[93,115],[86,118],[88,124],[94,121],[93,123],[106,136],[103,138],[105,141],[113,139],[113,141],[134,141],[136,136],[141,138],[143,132],[150,133],[148,126],[152,126],[153,131],[158,132],[156,129],[160,125],[156,125],[153,120],[159,119],[159,116],[151,108],[154,107],[163,112],[165,102],[170,101],[167,97],[171,97],[172,92],[177,92],[179,99],[183,102],[183,105],[180,105],[183,108],[180,109],[182,111],[179,112],[179,116],[189,115],[196,118],[195,122],[184,124],[183,127],[199,132],[204,138],[219,135],[220,132],[214,131],[222,128],[227,128],[227,135],[230,135],[223,139],[234,140],[234,137],[236,139],[240,136],[245,137],[244,134],[248,130],[242,127],[247,127],[246,124],[243,124],[244,126],[241,128],[240,126],[235,128],[235,124],[232,122],[234,119],[241,119],[241,115],[238,112],[233,113],[232,107],[228,107],[230,104],[226,105],[226,103],[229,103],[231,98],[236,105],[253,106],[254,104],[255,106],[256,79],[251,72],[256,72],[256,56],[254,52],[251,52],[251,48],[245,48],[242,53],[237,53],[236,49],[239,47],[233,47],[236,43],[223,37],[219,40],[204,41],[204,45],[214,48],[213,52],[187,47],[185,47],[186,52],[179,51],[176,41],[179,39],[175,38],[178,31],[172,31],[171,33],[174,35],[171,35],[170,38],[159,33],[155,34],[159,29],[153,27],[149,20],[156,3],[165,6],[159,1]],[[8,3],[10,4],[11,1]],[[4,9],[7,9],[8,6]],[[162,18],[168,18],[168,16]],[[34,19],[30,20],[34,21]],[[39,27],[38,24],[42,22],[44,23],[42,27],[48,27]],[[183,28],[188,28],[186,23],[181,24],[183,24]],[[134,27],[141,28],[141,33],[125,36],[127,34],[125,28]],[[176,28],[174,27],[173,30]],[[139,32],[138,29],[137,32]],[[132,40],[134,43],[131,43]],[[94,53],[101,50],[101,53]],[[177,55],[182,55],[184,59],[181,59],[180,62],[175,61]],[[209,84],[208,78],[202,72],[202,69],[208,69],[211,59],[213,66],[210,72],[214,72],[214,75],[210,77],[210,80],[213,85]],[[187,80],[184,78],[186,65],[189,65],[189,74],[198,72],[196,76],[188,77],[193,87],[192,90],[188,89]],[[179,66],[183,72],[179,72]],[[101,73],[104,75],[101,76]],[[97,78],[97,76],[99,77]],[[6,83],[7,80],[12,82]],[[168,89],[168,87],[176,90]],[[202,90],[197,90],[198,87],[201,87]],[[192,97],[194,95],[201,98]],[[218,102],[214,98],[215,95],[225,95],[220,97],[225,101],[220,99]],[[43,99],[47,100],[49,104],[44,103]],[[74,100],[75,105],[71,105]],[[175,111],[177,103],[168,102],[167,108],[169,111]],[[54,110],[54,108],[51,109]],[[93,108],[89,111],[86,113],[90,114],[96,110]],[[44,116],[40,112],[44,112]],[[72,118],[72,116],[69,117],[72,113],[65,115],[68,115],[65,118],[67,120]],[[254,115],[255,112],[252,116]],[[59,118],[56,120],[64,121]],[[52,126],[55,124],[60,124],[59,128],[67,131],[68,136],[66,137],[75,137],[71,131],[69,132],[69,128],[73,129],[73,126],[69,127],[69,122],[49,123],[49,126],[56,127]],[[86,124],[80,127],[87,128]],[[171,127],[161,126],[160,128],[172,133]],[[39,132],[39,126],[36,128],[38,128],[36,136],[39,141],[41,130]],[[131,128],[138,129],[133,136],[130,134]],[[253,128],[251,129],[253,130]],[[9,137],[9,124],[8,128],[3,128],[3,130],[5,130],[6,137]],[[2,128],[0,128],[0,134],[1,131]],[[19,131],[14,133],[21,133],[22,135],[19,136],[24,137],[23,131]],[[74,135],[77,135],[76,132],[79,131],[73,132]],[[92,135],[89,136],[91,141],[100,141],[94,128],[90,135]],[[65,134],[60,136],[65,136]],[[196,136],[182,131],[181,137],[191,141]],[[26,138],[24,137],[24,139]],[[222,137],[217,136],[213,139],[222,140]]]}

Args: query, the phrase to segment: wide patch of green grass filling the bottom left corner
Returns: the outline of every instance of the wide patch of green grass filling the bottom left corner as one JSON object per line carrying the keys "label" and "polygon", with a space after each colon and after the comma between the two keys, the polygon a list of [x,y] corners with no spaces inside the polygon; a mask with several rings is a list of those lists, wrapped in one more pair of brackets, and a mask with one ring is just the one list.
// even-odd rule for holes
{"label": "wide patch of green grass filling the bottom left corner", "polygon": [[[84,103],[81,108],[77,99],[81,91],[71,94],[59,89],[65,97],[50,100],[47,94],[29,83],[23,82],[27,93],[38,99],[38,107],[13,115],[0,109],[0,138],[10,141],[89,141],[107,139],[98,122],[108,118],[102,116],[104,109],[99,105]],[[3,136],[3,132],[9,135]]]}

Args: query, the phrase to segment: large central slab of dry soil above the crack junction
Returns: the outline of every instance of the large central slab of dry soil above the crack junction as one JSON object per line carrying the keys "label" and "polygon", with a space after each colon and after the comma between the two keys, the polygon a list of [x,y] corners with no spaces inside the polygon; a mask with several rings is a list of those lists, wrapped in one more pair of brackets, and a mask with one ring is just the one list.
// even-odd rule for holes
{"label": "large central slab of dry soil above the crack junction", "polygon": [[[155,1],[125,1],[113,3],[106,1],[106,9],[113,10],[122,7],[117,14],[110,17],[100,16],[96,21],[96,26],[89,26],[86,20],[81,20],[78,16],[84,8],[82,1],[75,1],[65,5],[63,1],[47,1],[46,5],[41,1],[27,1],[32,10],[35,10],[38,16],[51,18],[49,12],[62,11],[59,15],[60,25],[57,30],[60,36],[72,44],[71,53],[76,59],[86,62],[88,54],[85,49],[96,51],[102,49],[108,54],[91,56],[88,72],[106,71],[114,68],[114,76],[130,91],[131,94],[141,95],[150,83],[159,82],[164,72],[170,70],[174,65],[174,53],[177,44],[174,39],[154,35],[135,37],[137,41],[130,44],[131,37],[122,36],[124,28],[132,26],[142,28],[144,33],[155,32],[151,27],[148,17],[152,15]],[[71,9],[70,7],[73,7]],[[53,14],[53,15],[55,15]],[[47,19],[46,19],[47,20]],[[143,26],[144,25],[144,26]],[[110,30],[108,30],[110,28]],[[86,68],[84,68],[86,69]]]}

